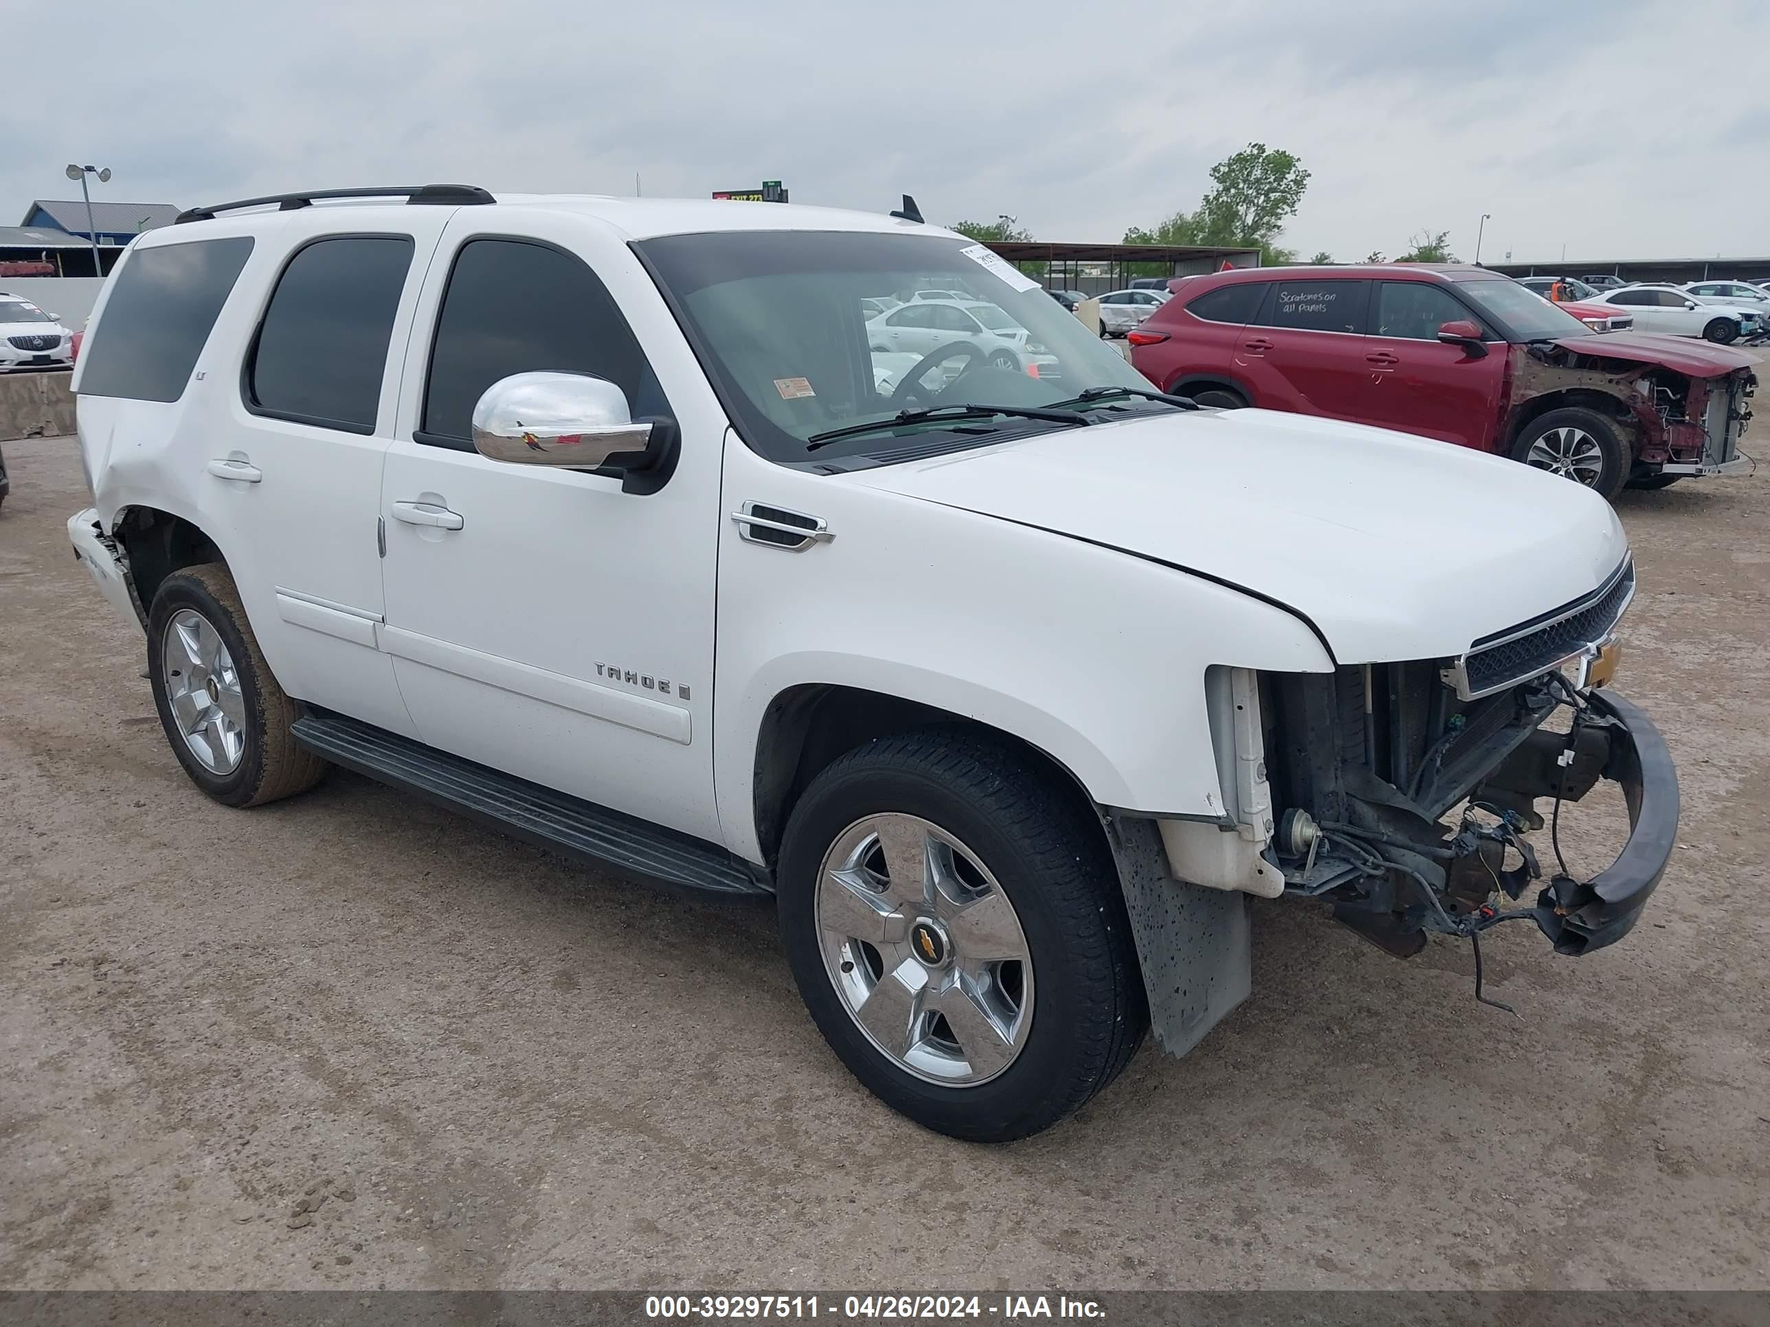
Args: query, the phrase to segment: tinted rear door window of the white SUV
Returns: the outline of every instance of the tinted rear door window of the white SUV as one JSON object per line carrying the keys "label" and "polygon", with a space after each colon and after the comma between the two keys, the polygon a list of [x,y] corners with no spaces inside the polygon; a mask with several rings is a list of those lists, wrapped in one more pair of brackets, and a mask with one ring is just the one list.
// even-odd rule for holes
{"label": "tinted rear door window of the white SUV", "polygon": [[412,241],[322,239],[283,269],[246,370],[258,414],[373,433]]}

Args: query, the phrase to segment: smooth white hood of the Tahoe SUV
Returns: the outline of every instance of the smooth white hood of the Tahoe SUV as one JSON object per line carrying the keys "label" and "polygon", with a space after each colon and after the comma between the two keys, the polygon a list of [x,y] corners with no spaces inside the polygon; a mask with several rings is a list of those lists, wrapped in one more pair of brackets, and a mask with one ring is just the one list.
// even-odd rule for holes
{"label": "smooth white hood of the Tahoe SUV", "polygon": [[1340,664],[1441,658],[1595,589],[1628,540],[1589,488],[1407,433],[1198,410],[844,476],[1276,600]]}

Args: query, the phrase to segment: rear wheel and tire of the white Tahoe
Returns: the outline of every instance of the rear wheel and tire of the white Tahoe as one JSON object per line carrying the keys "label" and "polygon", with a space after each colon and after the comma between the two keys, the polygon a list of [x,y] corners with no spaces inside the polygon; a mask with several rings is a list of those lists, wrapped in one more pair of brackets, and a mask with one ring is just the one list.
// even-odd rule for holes
{"label": "rear wheel and tire of the white Tahoe", "polygon": [[223,564],[186,566],[159,584],[147,671],[173,756],[221,805],[258,807],[326,775],[326,761],[296,745],[296,704],[264,662]]}

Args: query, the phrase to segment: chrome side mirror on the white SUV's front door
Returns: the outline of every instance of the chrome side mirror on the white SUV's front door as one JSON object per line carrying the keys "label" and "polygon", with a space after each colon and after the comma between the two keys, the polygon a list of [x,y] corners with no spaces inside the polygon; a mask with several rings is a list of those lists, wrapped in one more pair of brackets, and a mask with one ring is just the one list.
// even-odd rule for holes
{"label": "chrome side mirror on the white SUV's front door", "polygon": [[641,465],[651,430],[634,423],[627,393],[589,373],[512,373],[473,407],[474,449],[513,465]]}

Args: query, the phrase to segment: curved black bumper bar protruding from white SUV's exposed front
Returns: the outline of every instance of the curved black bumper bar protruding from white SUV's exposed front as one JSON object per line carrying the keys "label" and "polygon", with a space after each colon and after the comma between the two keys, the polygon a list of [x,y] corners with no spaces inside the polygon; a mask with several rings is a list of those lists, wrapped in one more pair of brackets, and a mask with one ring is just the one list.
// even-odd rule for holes
{"label": "curved black bumper bar protruding from white SUV's exposed front", "polygon": [[1678,770],[1666,738],[1639,706],[1620,695],[1591,692],[1588,701],[1607,720],[1602,731],[1611,752],[1604,777],[1621,784],[1630,832],[1607,871],[1586,883],[1556,876],[1536,895],[1536,925],[1556,954],[1574,955],[1614,945],[1634,929],[1678,842]]}

